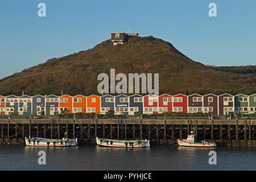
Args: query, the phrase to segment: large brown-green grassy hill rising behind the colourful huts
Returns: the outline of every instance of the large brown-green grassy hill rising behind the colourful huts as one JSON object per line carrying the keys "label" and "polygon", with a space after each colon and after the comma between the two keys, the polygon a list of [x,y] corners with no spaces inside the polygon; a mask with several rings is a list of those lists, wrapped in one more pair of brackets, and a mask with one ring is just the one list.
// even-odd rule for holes
{"label": "large brown-green grassy hill rising behind the colourful huts", "polygon": [[92,49],[49,59],[0,80],[0,95],[99,94],[99,73],[159,73],[159,93],[256,93],[253,75],[216,70],[177,51],[171,43],[149,37],[113,46],[110,40]]}

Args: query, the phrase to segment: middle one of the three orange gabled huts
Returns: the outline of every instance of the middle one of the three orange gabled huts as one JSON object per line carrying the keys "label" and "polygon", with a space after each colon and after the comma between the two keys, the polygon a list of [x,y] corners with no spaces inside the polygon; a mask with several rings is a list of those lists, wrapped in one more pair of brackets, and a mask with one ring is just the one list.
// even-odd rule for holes
{"label": "middle one of the three orange gabled huts", "polygon": [[86,97],[77,95],[73,97],[73,113],[86,113]]}

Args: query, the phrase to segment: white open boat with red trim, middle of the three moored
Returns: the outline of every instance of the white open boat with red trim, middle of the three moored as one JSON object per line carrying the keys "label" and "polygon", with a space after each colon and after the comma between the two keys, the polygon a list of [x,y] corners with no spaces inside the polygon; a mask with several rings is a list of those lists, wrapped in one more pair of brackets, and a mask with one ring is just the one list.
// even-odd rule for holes
{"label": "white open boat with red trim, middle of the three moored", "polygon": [[127,148],[141,148],[150,147],[150,140],[112,140],[96,137],[96,142],[99,146],[106,147],[127,147]]}

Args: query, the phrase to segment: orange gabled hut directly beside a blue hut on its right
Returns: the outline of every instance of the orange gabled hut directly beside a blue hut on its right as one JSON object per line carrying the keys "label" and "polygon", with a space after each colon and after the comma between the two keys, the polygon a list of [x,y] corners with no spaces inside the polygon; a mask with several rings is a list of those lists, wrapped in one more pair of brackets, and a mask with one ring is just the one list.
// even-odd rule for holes
{"label": "orange gabled hut directly beside a blue hut on its right", "polygon": [[101,97],[91,95],[87,97],[86,113],[101,113]]}

